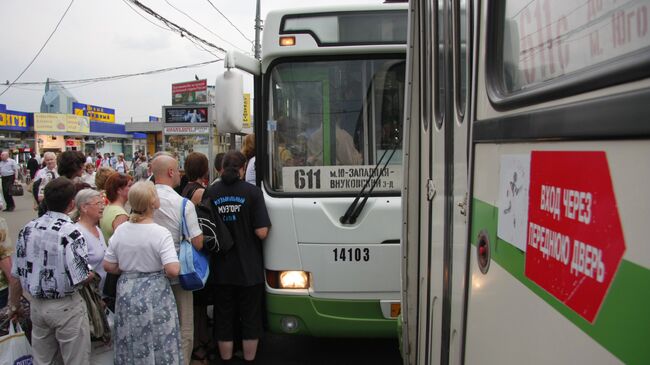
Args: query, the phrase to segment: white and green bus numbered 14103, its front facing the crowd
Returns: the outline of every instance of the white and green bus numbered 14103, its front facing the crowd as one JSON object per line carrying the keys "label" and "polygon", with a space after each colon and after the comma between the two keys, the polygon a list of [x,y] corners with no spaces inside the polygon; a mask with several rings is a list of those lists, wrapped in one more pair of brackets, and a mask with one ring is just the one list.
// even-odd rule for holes
{"label": "white and green bus numbered 14103, its front facing the crowd", "polygon": [[254,75],[272,332],[397,335],[407,19],[406,4],[273,11],[260,60],[227,56]]}

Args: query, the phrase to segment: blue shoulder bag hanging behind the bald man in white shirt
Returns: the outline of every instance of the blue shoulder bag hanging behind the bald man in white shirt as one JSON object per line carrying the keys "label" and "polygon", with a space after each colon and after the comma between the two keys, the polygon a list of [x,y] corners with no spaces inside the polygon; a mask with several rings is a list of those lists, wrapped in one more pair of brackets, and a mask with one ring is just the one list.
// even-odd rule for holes
{"label": "blue shoulder bag hanging behind the bald man in white shirt", "polygon": [[197,250],[188,240],[189,232],[185,222],[185,206],[187,199],[183,198],[181,207],[181,252],[178,259],[181,262],[181,273],[178,279],[185,290],[203,289],[210,274],[210,259],[206,254]]}

